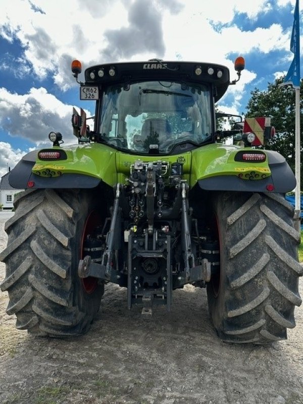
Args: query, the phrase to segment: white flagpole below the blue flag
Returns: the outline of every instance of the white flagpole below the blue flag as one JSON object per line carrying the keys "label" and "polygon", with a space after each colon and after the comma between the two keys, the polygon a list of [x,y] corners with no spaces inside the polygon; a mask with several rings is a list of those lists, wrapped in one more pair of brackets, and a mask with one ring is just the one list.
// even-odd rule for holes
{"label": "white flagpole below the blue flag", "polygon": [[300,142],[300,88],[295,88],[295,208],[294,227],[300,233],[300,213],[301,213],[301,142]]}

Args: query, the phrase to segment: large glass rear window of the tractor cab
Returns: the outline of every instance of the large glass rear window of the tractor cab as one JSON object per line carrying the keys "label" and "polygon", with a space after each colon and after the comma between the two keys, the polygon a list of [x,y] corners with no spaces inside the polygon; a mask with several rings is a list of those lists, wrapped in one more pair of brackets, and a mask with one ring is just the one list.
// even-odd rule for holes
{"label": "large glass rear window of the tractor cab", "polygon": [[138,154],[167,154],[178,143],[209,141],[212,133],[210,89],[203,84],[148,81],[109,86],[100,114],[101,139]]}

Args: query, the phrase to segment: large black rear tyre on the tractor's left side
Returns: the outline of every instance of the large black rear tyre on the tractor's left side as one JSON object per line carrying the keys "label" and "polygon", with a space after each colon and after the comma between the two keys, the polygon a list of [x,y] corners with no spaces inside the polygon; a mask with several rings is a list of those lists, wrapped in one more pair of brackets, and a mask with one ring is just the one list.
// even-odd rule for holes
{"label": "large black rear tyre on the tractor's left side", "polygon": [[2,290],[16,327],[52,337],[83,334],[104,292],[95,279],[78,277],[87,218],[95,199],[86,190],[37,189],[15,198],[15,215],[6,223],[8,246]]}

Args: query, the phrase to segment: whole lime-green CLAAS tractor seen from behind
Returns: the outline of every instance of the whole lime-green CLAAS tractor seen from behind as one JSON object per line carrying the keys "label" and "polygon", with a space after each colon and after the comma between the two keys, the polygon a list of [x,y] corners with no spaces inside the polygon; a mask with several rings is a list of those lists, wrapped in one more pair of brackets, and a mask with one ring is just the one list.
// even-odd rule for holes
{"label": "whole lime-green CLAAS tractor seen from behind", "polygon": [[[206,287],[218,336],[285,339],[301,304],[299,234],[284,195],[285,159],[260,146],[267,118],[217,130],[215,103],[230,81],[212,63],[72,63],[80,99],[95,101],[93,129],[74,110],[77,144],[35,150],[11,171],[25,188],[6,223],[1,289],[7,313],[33,335],[74,336],[95,318],[104,286],[127,287],[127,305],[157,315],[173,290]],[[226,141],[232,138],[233,141]],[[230,143],[230,144],[228,144]]]}

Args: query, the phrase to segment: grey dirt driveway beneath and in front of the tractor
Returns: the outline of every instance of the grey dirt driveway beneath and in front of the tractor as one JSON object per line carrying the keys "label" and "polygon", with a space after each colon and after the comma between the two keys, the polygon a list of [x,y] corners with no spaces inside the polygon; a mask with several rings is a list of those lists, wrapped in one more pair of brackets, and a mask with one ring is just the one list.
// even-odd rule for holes
{"label": "grey dirt driveway beneath and in front of the tractor", "polygon": [[126,289],[108,285],[91,330],[74,339],[16,330],[7,304],[0,293],[1,404],[303,403],[303,306],[288,340],[262,347],[221,342],[206,291],[192,286],[174,292],[171,313],[158,308],[144,319],[139,308],[128,311]]}

